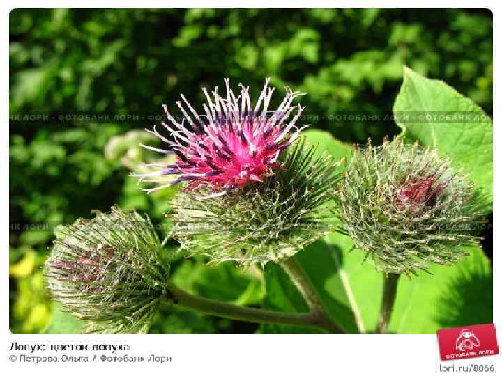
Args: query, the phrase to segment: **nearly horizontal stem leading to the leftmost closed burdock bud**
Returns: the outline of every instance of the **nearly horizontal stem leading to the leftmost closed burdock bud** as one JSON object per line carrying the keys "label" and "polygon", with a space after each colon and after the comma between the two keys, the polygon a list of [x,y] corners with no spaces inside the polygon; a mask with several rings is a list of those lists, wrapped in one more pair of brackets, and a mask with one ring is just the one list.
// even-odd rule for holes
{"label": "nearly horizontal stem leading to the leftmost closed burdock bud", "polygon": [[[317,320],[317,316],[312,315],[312,313],[285,313],[266,311],[259,308],[236,306],[235,304],[225,303],[224,301],[198,297],[196,295],[189,294],[180,288],[176,288],[175,286],[170,286],[169,292],[172,294],[172,296],[169,297],[169,301],[174,301],[174,304],[192,311],[198,311],[208,315],[218,316],[220,318],[250,322],[299,325],[302,327],[322,327]],[[322,327],[322,329],[330,330],[328,327]]]}

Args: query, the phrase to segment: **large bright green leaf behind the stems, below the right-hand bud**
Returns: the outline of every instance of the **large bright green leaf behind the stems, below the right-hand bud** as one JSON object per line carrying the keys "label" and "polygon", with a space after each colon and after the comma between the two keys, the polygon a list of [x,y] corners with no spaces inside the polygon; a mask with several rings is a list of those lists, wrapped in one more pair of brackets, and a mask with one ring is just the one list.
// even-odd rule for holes
{"label": "large bright green leaf behind the stems, below the right-hand bud", "polygon": [[[333,233],[298,253],[298,260],[321,290],[323,301],[335,321],[345,325],[349,332],[356,333],[351,312],[355,308],[357,317],[371,333],[379,317],[383,274],[368,261],[363,261],[363,251],[351,250],[353,242],[350,237]],[[432,274],[400,278],[389,324],[390,333],[434,334],[437,329],[445,327],[492,322],[490,262],[479,247],[472,247],[469,252],[471,256],[463,258],[457,265],[434,264],[430,265]],[[333,258],[339,261],[333,263]],[[265,276],[265,307],[307,311],[301,295],[280,267],[267,265]],[[261,332],[319,333],[312,329],[271,324],[262,325]]]}

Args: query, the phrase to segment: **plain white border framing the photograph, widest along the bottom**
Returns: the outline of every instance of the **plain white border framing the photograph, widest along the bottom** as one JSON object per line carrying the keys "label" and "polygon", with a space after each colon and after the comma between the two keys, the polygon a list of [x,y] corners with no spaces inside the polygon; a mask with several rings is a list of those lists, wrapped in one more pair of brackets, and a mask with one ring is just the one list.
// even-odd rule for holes
{"label": "plain white border framing the photograph, widest along the bottom", "polygon": [[[501,54],[499,53],[501,28],[498,25],[500,12],[497,1],[451,1],[423,0],[419,3],[406,3],[402,1],[319,1],[310,3],[294,1],[184,1],[183,4],[174,1],[102,1],[88,0],[78,3],[53,0],[44,1],[19,1],[17,3],[2,3],[0,26],[2,31],[1,47],[1,112],[3,118],[8,118],[8,38],[9,38],[9,12],[12,8],[489,8],[494,13],[494,67],[502,67]],[[180,6],[182,5],[182,6]],[[500,69],[499,69],[500,70]],[[500,106],[501,81],[499,70],[494,68],[494,120],[501,118]],[[496,121],[494,121],[496,123]],[[9,169],[8,162],[8,124],[1,129],[2,147],[0,148],[0,166],[4,177]],[[502,201],[499,189],[502,187],[500,162],[502,149],[500,146],[501,131],[494,127],[494,221],[495,229],[501,224]],[[8,212],[8,181],[4,178],[1,185],[2,212]],[[27,372],[37,372],[43,375],[86,375],[93,370],[99,373],[116,372],[118,367],[123,372],[125,364],[128,372],[151,372],[158,370],[159,374],[171,373],[173,375],[195,375],[204,373],[209,375],[273,375],[274,373],[289,375],[360,375],[365,372],[375,371],[386,375],[435,375],[445,374],[440,372],[440,366],[452,364],[494,364],[496,371],[502,372],[501,355],[495,357],[482,357],[464,359],[460,361],[440,362],[436,335],[380,335],[380,336],[314,336],[314,335],[163,335],[163,336],[70,336],[70,335],[14,335],[10,334],[8,325],[8,216],[0,217],[1,244],[6,251],[0,258],[1,265],[1,291],[3,304],[0,304],[0,333],[1,345],[5,352],[0,356],[0,364],[6,370],[6,375]],[[494,231],[494,322],[502,338],[502,256],[498,254],[498,246],[502,244],[502,232]],[[8,361],[10,343],[110,343],[126,344],[131,347],[130,356],[144,356],[149,354],[167,355],[172,357],[172,363],[11,363]],[[499,341],[500,343],[500,341]],[[91,347],[91,345],[89,345]],[[502,350],[502,349],[501,349]],[[62,354],[62,353],[61,353]],[[79,355],[75,352],[75,355]],[[113,355],[113,354],[112,354]]]}

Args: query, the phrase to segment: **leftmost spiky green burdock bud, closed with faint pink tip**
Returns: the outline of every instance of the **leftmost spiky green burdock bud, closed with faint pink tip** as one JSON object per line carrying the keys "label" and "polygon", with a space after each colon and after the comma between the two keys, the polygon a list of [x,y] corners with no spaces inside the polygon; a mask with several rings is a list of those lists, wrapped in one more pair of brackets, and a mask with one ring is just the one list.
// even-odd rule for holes
{"label": "leftmost spiky green burdock bud, closed with faint pink tip", "polygon": [[112,207],[56,231],[45,262],[54,299],[88,332],[144,333],[168,295],[169,267],[150,221]]}

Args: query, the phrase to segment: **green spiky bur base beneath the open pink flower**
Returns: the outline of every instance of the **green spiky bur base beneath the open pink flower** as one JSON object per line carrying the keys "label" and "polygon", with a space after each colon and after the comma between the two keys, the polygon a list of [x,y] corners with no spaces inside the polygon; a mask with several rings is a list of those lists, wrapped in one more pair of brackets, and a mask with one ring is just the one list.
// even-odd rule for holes
{"label": "green spiky bur base beneath the open pink flower", "polygon": [[189,255],[212,263],[280,262],[333,230],[333,187],[339,162],[303,140],[279,159],[282,168],[236,194],[199,200],[193,192],[172,203],[172,236]]}

